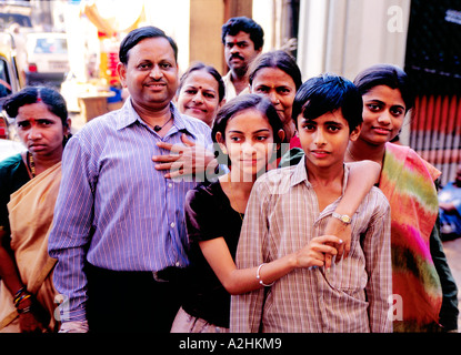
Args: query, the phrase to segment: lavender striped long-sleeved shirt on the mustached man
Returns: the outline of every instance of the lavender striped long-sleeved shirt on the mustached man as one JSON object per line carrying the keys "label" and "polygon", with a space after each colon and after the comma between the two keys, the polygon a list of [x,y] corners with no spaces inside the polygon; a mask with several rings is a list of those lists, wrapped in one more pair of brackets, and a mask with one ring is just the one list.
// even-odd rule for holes
{"label": "lavender striped long-sleeved shirt on the mustached man", "polygon": [[210,149],[212,142],[207,124],[173,104],[171,110],[173,126],[161,138],[127,100],[121,110],[87,123],[64,150],[49,253],[58,258],[56,288],[69,297],[61,307],[68,321],[84,320],[86,258],[116,271],[189,264],[183,205],[197,182],[164,179],[152,155],[169,153],[157,142],[182,143],[183,133]]}

